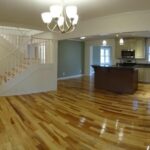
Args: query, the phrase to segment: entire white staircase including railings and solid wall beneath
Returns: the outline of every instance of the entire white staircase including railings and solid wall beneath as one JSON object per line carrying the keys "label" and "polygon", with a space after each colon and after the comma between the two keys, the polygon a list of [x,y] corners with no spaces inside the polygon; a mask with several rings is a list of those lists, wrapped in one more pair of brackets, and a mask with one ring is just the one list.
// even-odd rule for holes
{"label": "entire white staircase including railings and solid wall beneath", "polygon": [[56,90],[57,40],[5,29],[0,27],[0,96]]}

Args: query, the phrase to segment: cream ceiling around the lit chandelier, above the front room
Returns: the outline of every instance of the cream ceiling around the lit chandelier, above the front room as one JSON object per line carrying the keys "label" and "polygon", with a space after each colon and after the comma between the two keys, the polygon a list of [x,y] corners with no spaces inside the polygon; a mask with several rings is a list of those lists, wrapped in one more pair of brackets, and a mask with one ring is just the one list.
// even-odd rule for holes
{"label": "cream ceiling around the lit chandelier, above the front room", "polygon": [[[0,25],[47,30],[40,14],[62,0],[0,0]],[[150,10],[150,0],[64,0],[78,6],[79,21],[116,13]]]}

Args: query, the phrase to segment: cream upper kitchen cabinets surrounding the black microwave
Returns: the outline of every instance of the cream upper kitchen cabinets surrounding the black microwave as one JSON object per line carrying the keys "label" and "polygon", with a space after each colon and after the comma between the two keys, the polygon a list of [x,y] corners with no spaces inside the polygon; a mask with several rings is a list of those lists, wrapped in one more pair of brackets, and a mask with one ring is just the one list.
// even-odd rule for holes
{"label": "cream upper kitchen cabinets surrounding the black microwave", "polygon": [[119,44],[119,39],[116,40],[116,57],[121,58],[121,50],[135,50],[135,58],[145,58],[145,39],[144,38],[126,38],[124,45]]}

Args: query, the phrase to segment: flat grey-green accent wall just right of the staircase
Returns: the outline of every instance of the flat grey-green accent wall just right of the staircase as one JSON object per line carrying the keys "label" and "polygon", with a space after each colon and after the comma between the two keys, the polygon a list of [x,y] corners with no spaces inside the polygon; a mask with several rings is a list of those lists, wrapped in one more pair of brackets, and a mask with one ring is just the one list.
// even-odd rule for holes
{"label": "flat grey-green accent wall just right of the staircase", "polygon": [[58,78],[83,74],[84,42],[58,42]]}

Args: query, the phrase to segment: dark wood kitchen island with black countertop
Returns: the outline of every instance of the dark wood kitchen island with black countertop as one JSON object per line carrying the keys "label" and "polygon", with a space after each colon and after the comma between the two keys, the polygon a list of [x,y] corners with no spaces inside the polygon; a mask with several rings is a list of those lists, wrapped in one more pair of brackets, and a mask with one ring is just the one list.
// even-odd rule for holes
{"label": "dark wood kitchen island with black countertop", "polygon": [[117,93],[134,93],[138,88],[138,71],[134,67],[98,66],[94,68],[94,86]]}

